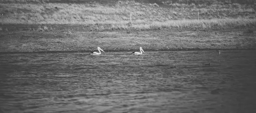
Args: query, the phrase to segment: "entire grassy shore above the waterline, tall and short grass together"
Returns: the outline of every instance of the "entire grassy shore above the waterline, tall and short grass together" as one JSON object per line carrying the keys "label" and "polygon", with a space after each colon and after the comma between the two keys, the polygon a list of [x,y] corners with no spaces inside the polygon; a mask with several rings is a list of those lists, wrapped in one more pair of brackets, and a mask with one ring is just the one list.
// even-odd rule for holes
{"label": "entire grassy shore above the waterline, tall and short grass together", "polygon": [[253,1],[100,1],[3,0],[0,52],[256,49]]}

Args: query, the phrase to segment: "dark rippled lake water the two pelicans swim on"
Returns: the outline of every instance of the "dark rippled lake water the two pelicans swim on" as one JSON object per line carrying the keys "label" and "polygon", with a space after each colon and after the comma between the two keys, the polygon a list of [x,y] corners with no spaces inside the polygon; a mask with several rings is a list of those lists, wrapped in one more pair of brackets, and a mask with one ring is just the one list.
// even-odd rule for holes
{"label": "dark rippled lake water the two pelicans swim on", "polygon": [[256,51],[88,54],[1,54],[0,113],[256,113]]}

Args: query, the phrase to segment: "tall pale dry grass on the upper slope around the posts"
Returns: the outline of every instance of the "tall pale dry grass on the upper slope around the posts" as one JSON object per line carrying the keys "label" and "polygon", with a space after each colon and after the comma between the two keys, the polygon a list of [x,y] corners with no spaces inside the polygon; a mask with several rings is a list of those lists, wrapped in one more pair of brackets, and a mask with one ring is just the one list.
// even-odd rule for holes
{"label": "tall pale dry grass on the upper slope around the posts", "polygon": [[[7,0],[8,1],[8,0]],[[21,0],[13,0],[21,1]],[[23,0],[26,3],[28,0]],[[34,0],[35,2],[38,0]],[[112,5],[100,3],[0,3],[5,24],[83,24],[92,29],[162,29],[162,28],[230,28],[253,26],[256,14],[253,5],[179,4],[168,8],[157,3],[119,1]],[[200,20],[197,12],[200,12]],[[132,23],[130,21],[132,13]]]}

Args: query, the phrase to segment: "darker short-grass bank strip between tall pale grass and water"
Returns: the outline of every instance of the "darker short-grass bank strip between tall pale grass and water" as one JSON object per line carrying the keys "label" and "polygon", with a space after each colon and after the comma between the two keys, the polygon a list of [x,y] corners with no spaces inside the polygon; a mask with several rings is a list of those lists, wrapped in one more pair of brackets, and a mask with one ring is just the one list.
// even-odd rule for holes
{"label": "darker short-grass bank strip between tall pale grass and water", "polygon": [[105,51],[133,51],[140,46],[145,51],[256,49],[255,29],[174,28],[128,32],[84,31],[83,28],[83,25],[48,25],[35,31],[3,31],[0,52],[92,51],[97,46]]}

